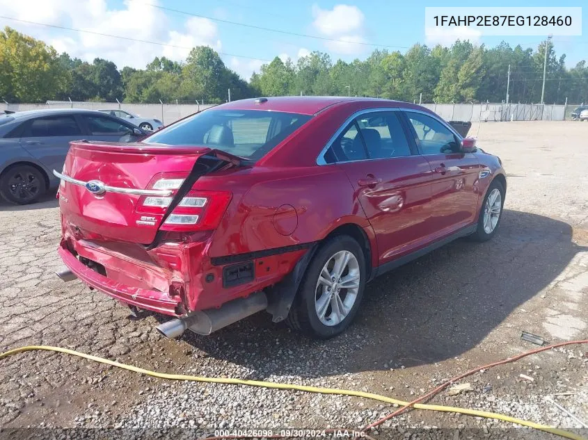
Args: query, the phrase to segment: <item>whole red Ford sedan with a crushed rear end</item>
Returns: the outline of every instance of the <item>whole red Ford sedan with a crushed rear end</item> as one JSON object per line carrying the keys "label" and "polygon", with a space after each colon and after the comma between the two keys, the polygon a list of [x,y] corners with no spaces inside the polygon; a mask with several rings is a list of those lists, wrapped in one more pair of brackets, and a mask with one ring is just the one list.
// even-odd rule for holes
{"label": "whole red Ford sedan with a crushed rear end", "polygon": [[365,284],[455,238],[491,238],[500,158],[384,99],[230,102],[134,144],[72,142],[58,197],[64,280],[209,334],[257,311],[342,332]]}

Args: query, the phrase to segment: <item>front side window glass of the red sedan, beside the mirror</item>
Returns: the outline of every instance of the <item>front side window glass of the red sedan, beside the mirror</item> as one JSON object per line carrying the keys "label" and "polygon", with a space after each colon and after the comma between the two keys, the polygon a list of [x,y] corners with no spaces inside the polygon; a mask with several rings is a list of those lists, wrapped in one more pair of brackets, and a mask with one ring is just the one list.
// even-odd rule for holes
{"label": "front side window glass of the red sedan, beside the mirror", "polygon": [[434,117],[410,111],[406,116],[415,130],[422,154],[459,153],[459,142],[454,133]]}

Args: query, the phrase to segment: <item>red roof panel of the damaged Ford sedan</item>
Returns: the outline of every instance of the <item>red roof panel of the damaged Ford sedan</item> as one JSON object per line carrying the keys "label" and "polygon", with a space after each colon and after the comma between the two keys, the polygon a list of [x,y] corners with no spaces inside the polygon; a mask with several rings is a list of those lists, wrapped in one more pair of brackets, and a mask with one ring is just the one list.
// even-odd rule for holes
{"label": "red roof panel of the damaged Ford sedan", "polygon": [[287,113],[302,113],[305,115],[315,115],[328,106],[340,102],[365,102],[366,104],[378,102],[389,102],[397,106],[406,106],[402,101],[391,101],[390,99],[364,98],[364,97],[341,97],[341,96],[282,96],[240,99],[226,104],[221,104],[215,109],[223,110],[271,110],[283,111]]}

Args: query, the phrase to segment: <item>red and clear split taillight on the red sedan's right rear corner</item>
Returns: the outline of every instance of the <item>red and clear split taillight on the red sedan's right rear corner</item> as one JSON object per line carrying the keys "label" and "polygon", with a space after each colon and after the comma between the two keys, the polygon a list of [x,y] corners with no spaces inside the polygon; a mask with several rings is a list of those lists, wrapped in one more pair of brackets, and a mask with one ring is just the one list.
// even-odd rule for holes
{"label": "red and clear split taillight on the red sedan's right rear corner", "polygon": [[[180,178],[181,177],[181,178]],[[150,182],[150,189],[172,190],[171,195],[143,195],[136,211],[141,214],[166,213],[177,190],[184,182],[177,174],[159,173]],[[164,231],[204,231],[215,229],[227,209],[232,195],[225,191],[190,190],[175,206],[160,229]]]}

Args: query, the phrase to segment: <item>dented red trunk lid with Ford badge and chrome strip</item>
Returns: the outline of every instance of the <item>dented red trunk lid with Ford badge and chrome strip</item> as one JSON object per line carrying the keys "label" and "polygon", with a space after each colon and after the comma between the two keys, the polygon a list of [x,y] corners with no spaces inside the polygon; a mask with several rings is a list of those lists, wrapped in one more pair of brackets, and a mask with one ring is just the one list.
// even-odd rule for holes
{"label": "dented red trunk lid with Ford badge and chrome strip", "polygon": [[140,142],[72,142],[62,174],[76,182],[62,179],[59,187],[65,223],[84,236],[90,233],[148,245],[154,241],[164,213],[145,213],[141,202],[148,194],[141,191],[171,196],[170,190],[153,188],[155,181],[161,177],[185,179],[198,158],[213,151]]}

